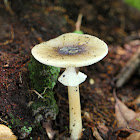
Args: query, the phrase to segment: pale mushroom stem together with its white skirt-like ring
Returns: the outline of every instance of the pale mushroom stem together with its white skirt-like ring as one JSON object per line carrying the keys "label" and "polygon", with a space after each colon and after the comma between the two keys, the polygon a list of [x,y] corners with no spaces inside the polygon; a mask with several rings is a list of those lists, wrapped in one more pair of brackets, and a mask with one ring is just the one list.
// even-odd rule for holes
{"label": "pale mushroom stem together with its white skirt-like ring", "polygon": [[68,86],[70,134],[72,140],[78,140],[82,136],[82,119],[79,95],[79,84],[85,81],[87,75],[76,72],[76,68],[70,67],[62,73],[58,81]]}

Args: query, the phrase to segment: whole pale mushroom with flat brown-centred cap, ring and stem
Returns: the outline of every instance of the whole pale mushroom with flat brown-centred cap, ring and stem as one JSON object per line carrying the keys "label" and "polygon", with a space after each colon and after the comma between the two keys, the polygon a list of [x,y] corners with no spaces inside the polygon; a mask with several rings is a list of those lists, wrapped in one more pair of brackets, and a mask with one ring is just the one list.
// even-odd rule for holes
{"label": "whole pale mushroom with flat brown-centred cap, ring and stem", "polygon": [[55,39],[36,45],[32,55],[40,63],[66,68],[58,81],[68,86],[70,134],[72,140],[82,136],[79,84],[87,75],[77,68],[92,65],[108,53],[105,42],[87,34],[66,33]]}

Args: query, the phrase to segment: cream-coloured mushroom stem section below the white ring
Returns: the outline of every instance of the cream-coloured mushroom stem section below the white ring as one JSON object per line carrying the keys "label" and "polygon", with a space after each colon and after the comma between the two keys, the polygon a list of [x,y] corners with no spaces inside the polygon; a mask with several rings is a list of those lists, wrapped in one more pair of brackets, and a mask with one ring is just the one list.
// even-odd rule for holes
{"label": "cream-coloured mushroom stem section below the white ring", "polygon": [[82,136],[82,119],[79,86],[68,86],[71,140]]}

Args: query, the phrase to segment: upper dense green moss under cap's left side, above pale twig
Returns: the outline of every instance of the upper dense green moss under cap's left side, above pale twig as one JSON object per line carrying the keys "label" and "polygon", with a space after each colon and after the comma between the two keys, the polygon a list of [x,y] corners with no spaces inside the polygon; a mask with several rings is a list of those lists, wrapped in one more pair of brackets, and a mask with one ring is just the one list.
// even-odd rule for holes
{"label": "upper dense green moss under cap's left side, above pale twig", "polygon": [[45,88],[54,88],[60,68],[43,65],[33,57],[31,57],[28,68],[30,71],[31,87],[33,89],[42,93]]}

